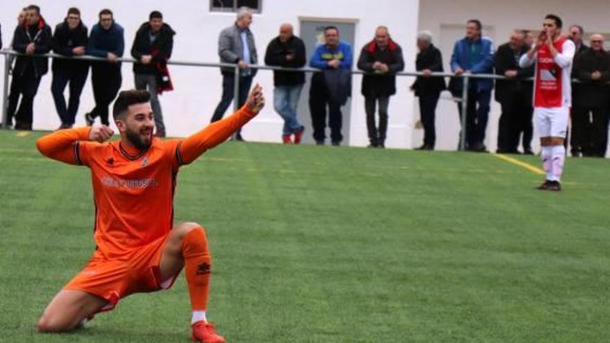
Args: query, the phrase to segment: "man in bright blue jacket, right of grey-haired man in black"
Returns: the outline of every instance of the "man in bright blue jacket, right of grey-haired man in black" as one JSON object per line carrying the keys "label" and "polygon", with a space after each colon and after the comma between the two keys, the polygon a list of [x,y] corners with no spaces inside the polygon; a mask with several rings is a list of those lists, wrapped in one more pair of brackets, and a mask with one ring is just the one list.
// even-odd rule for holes
{"label": "man in bright blue jacket, right of grey-haired man in black", "polygon": [[[451,71],[456,76],[464,73],[494,73],[494,42],[481,37],[481,22],[471,19],[466,25],[466,37],[455,42],[451,55]],[[457,82],[455,82],[457,81]],[[462,80],[454,79],[451,91],[455,96],[462,96]],[[489,117],[489,101],[494,80],[471,78],[468,89],[468,106],[466,114],[466,148],[476,152],[485,152],[485,130]],[[462,105],[458,104],[460,120]]]}

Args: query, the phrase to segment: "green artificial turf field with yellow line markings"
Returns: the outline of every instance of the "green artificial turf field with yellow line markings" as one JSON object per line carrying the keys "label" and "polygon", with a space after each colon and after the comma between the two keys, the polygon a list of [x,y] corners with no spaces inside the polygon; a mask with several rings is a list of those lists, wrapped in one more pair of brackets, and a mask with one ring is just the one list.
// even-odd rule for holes
{"label": "green artificial turf field with yellow line markings", "polygon": [[[189,342],[184,276],[35,332],[94,249],[89,171],[0,130],[0,342]],[[539,166],[537,157],[516,157]],[[608,342],[610,161],[564,191],[488,154],[225,143],[178,176],[227,342]]]}

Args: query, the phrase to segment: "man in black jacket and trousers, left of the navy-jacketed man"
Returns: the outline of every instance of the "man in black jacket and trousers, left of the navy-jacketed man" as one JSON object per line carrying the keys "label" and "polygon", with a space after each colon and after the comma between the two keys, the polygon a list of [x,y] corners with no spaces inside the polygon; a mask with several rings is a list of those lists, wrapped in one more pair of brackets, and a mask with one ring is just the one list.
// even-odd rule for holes
{"label": "man in black jacket and trousers, left of the navy-jacketed man", "polygon": [[[82,56],[87,49],[87,26],[80,20],[80,10],[70,8],[66,19],[55,26],[53,33],[53,51],[64,56]],[[74,118],[78,112],[80,93],[87,81],[89,62],[78,60],[53,59],[53,82],[51,92],[55,100],[55,109],[62,124],[60,129],[74,125]],[[70,83],[70,98],[66,106],[64,89]]]}

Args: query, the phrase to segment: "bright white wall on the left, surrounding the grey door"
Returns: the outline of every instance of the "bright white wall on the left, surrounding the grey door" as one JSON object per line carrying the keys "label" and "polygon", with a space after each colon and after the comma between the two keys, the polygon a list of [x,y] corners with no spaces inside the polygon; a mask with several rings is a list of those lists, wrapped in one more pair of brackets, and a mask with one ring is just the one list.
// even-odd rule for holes
{"label": "bright white wall on the left, surrounding the grey door", "polygon": [[[277,35],[279,25],[290,22],[299,34],[299,17],[320,17],[326,19],[356,19],[356,46],[354,59],[358,58],[360,48],[372,39],[374,28],[386,25],[397,42],[403,46],[406,65],[412,69],[415,59],[415,31],[417,29],[417,0],[263,0],[261,14],[254,15],[251,29],[256,39],[259,60],[263,60],[266,46],[270,39]],[[217,40],[222,28],[234,22],[234,13],[210,12],[208,0],[165,1],[165,0],[39,0],[15,1],[0,0],[0,24],[4,47],[10,44],[19,10],[29,3],[36,3],[42,9],[42,15],[51,26],[62,21],[67,8],[76,6],[82,12],[82,19],[89,28],[97,21],[101,8],[110,8],[116,22],[125,28],[125,57],[130,56],[134,33],[140,24],[148,20],[151,10],[160,10],[164,20],[177,32],[173,52],[174,60],[201,62],[218,62]],[[312,51],[307,52],[311,55]],[[356,61],[354,62],[354,67]],[[212,112],[220,100],[221,76],[218,69],[200,69],[195,67],[170,67],[175,90],[161,97],[167,132],[171,136],[185,136],[209,123]],[[272,109],[272,73],[260,71],[254,82],[259,82],[265,89],[268,105],[257,118],[248,124],[243,134],[245,139],[253,141],[280,141],[281,118]],[[411,109],[412,95],[407,91],[412,79],[399,78],[399,92],[390,104],[390,131],[387,146],[408,147],[412,141]],[[364,146],[367,144],[364,100],[360,96],[360,76],[354,78],[351,98],[350,144]],[[0,80],[0,87],[1,87]],[[131,64],[123,64],[123,89],[133,87]],[[54,129],[59,126],[51,97],[51,71],[44,76],[34,105],[35,129]],[[303,96],[308,96],[303,94]],[[76,124],[83,125],[82,114],[89,111],[93,103],[91,84],[87,81],[83,91]],[[311,134],[311,128],[308,128]]]}

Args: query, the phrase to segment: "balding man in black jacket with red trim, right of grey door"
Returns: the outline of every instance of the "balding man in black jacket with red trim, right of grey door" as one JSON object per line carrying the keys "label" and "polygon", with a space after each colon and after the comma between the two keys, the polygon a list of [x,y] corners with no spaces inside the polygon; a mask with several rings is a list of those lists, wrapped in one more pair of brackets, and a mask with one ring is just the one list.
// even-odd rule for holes
{"label": "balding man in black jacket with red trim, right of grey door", "polygon": [[[362,81],[367,130],[371,148],[384,148],[387,132],[387,106],[396,94],[396,73],[405,69],[403,51],[390,38],[385,26],[375,30],[375,38],[365,44],[358,58],[358,69],[366,71]],[[375,126],[375,107],[379,104],[379,127]]]}

